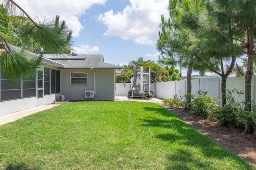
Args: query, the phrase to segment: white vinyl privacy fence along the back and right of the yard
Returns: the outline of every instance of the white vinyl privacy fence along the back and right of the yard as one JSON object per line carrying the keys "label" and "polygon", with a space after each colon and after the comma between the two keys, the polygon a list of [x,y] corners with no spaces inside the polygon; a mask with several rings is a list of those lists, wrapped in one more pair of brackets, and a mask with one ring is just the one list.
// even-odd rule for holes
{"label": "white vinyl privacy fence along the back and right of the yard", "polygon": [[[244,90],[244,76],[240,77],[228,77],[226,88],[237,90]],[[116,83],[116,96],[128,96],[128,90],[130,90],[130,83]],[[187,80],[172,81],[172,82],[158,82],[150,84],[150,90],[154,90],[154,94],[158,98],[168,99],[173,98],[175,94],[184,99],[184,95],[187,91]],[[195,78],[192,80],[192,94],[195,94],[198,90],[208,92],[208,95],[218,96],[215,99],[217,102],[221,99],[221,78]],[[256,74],[252,76],[252,100],[256,101]],[[241,102],[244,100],[244,94],[235,95],[236,101]],[[218,103],[218,102],[217,102]],[[220,103],[219,103],[220,104]]]}

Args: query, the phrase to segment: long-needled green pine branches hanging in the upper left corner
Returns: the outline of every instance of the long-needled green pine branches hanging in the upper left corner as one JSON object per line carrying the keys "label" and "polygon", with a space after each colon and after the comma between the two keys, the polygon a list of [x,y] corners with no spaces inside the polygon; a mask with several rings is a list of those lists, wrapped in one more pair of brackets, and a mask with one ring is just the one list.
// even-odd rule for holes
{"label": "long-needled green pine branches hanging in the upper left corner", "polygon": [[[56,20],[46,20],[42,23],[37,23],[13,0],[0,0],[9,15],[20,14],[26,16],[31,24],[27,27],[23,38],[32,38],[38,42],[39,47],[57,53],[64,52],[72,47],[72,32],[68,30],[65,22],[59,24],[59,18]],[[28,78],[36,72],[36,69],[42,63],[42,54],[36,58],[28,58],[24,51],[16,51],[10,45],[10,38],[4,32],[0,32],[0,42],[4,48],[1,54],[0,66],[4,76],[12,80],[21,80]]]}

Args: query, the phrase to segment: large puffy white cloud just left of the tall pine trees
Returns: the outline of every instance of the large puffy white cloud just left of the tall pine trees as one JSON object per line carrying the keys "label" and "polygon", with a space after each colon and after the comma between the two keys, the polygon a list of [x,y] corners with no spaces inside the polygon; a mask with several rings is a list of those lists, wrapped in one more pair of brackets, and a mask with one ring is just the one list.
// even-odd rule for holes
{"label": "large puffy white cloud just left of the tall pine trees", "polygon": [[168,17],[168,0],[130,0],[122,12],[100,14],[98,20],[108,26],[107,36],[120,36],[138,44],[156,44],[161,15]]}

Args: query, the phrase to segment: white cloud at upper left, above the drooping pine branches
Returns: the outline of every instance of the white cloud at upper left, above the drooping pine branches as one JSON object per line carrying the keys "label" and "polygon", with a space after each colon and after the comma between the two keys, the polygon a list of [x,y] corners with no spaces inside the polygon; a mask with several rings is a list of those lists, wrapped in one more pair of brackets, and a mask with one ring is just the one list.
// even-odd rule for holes
{"label": "white cloud at upper left, above the drooping pine branches", "polygon": [[20,0],[17,1],[28,14],[35,16],[45,16],[55,18],[60,16],[65,20],[69,28],[73,31],[73,36],[79,36],[79,32],[84,28],[79,21],[79,16],[85,14],[86,10],[93,4],[105,4],[107,0]]}

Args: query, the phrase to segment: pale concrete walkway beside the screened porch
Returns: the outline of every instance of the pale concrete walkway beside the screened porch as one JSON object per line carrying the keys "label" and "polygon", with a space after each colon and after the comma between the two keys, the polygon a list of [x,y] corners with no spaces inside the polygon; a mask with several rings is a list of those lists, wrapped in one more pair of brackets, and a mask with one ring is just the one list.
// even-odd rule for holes
{"label": "pale concrete walkway beside the screened porch", "polygon": [[58,104],[44,104],[41,106],[36,106],[34,108],[29,108],[29,109],[21,110],[18,112],[6,114],[4,116],[0,116],[0,125],[6,124],[9,122],[14,122],[15,120],[18,120],[30,114],[34,114],[42,110],[53,108],[54,106],[58,106]]}

